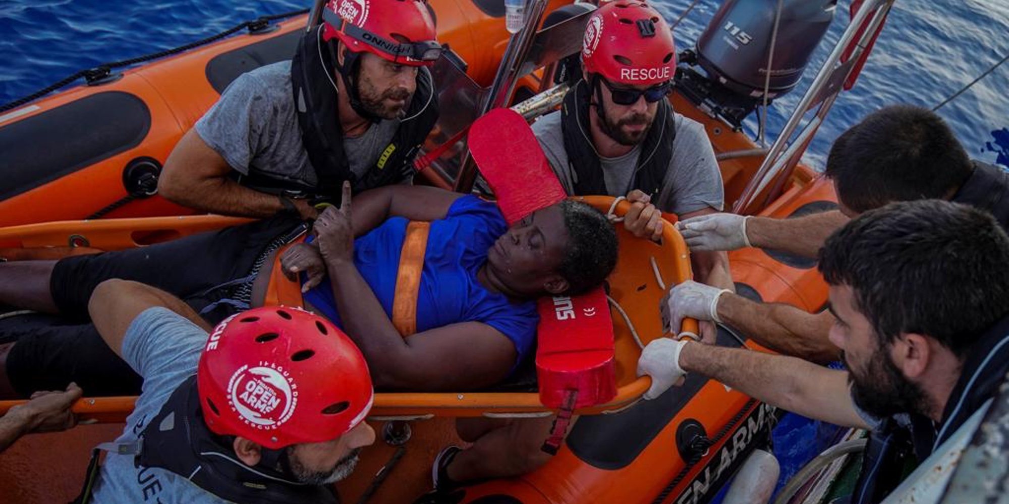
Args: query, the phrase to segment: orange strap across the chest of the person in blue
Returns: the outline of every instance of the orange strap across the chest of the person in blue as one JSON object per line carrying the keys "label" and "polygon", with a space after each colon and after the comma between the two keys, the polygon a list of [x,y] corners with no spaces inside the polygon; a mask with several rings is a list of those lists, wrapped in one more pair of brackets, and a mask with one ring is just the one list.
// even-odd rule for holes
{"label": "orange strap across the chest of the person in blue", "polygon": [[413,221],[407,225],[407,236],[400,252],[400,272],[396,277],[393,298],[393,326],[406,338],[417,332],[417,294],[421,288],[424,253],[428,248],[431,223]]}

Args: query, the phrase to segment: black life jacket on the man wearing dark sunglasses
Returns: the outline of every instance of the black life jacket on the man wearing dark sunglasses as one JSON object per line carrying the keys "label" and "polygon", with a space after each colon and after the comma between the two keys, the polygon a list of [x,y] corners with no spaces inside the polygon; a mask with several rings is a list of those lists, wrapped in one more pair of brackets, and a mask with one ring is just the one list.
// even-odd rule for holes
{"label": "black life jacket on the man wearing dark sunglasses", "polygon": [[[574,194],[624,196],[616,194],[623,188],[613,187],[616,193],[608,191],[602,174],[602,163],[599,154],[592,145],[589,136],[589,109],[591,108],[591,90],[584,80],[578,81],[564,96],[561,108],[561,133],[564,137],[564,150],[567,152],[568,165],[574,174]],[[596,100],[599,100],[596,97]],[[596,105],[596,107],[601,107]],[[659,100],[655,120],[641,145],[641,153],[635,166],[633,188],[641,190],[658,201],[662,182],[669,170],[673,158],[673,142],[676,139],[676,119],[673,107],[666,100]]]}

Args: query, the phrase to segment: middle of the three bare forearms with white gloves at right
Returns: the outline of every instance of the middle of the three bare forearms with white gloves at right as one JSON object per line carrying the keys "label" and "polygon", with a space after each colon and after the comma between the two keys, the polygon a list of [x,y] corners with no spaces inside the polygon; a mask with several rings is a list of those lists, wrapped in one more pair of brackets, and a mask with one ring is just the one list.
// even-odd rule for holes
{"label": "middle of the three bare forearms with white gloves at right", "polygon": [[717,309],[722,322],[776,352],[821,364],[840,354],[827,338],[833,324],[828,311],[809,313],[791,304],[754,302],[727,292],[718,298]]}

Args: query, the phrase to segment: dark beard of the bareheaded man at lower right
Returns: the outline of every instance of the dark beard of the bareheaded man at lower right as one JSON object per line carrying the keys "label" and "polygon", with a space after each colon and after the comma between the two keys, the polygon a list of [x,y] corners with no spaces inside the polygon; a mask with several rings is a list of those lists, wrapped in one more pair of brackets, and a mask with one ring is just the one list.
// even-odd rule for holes
{"label": "dark beard of the bareheaded man at lower right", "polygon": [[907,379],[881,347],[873,352],[866,375],[859,376],[842,353],[849,369],[855,403],[874,416],[885,418],[898,413],[928,414],[928,396],[920,385]]}

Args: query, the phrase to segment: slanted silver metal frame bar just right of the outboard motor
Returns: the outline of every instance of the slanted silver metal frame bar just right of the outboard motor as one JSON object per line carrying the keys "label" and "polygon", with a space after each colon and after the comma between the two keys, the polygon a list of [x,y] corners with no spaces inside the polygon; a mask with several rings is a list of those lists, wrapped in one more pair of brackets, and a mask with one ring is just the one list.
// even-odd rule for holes
{"label": "slanted silver metal frame bar just right of the outboard motor", "polygon": [[[804,150],[803,147],[812,139],[812,135],[815,134],[819,125],[822,124],[824,117],[829,112],[837,95],[844,90],[844,87],[836,86],[836,89],[825,97],[823,96],[824,91],[829,91],[828,88],[831,84],[836,85],[845,81],[845,79],[835,79],[837,72],[845,71],[846,79],[851,75],[854,66],[847,64],[857,61],[861,57],[868,43],[882,26],[883,21],[886,19],[886,14],[893,7],[893,2],[894,0],[868,0],[862,5],[856,13],[855,19],[848,25],[837,44],[834,45],[830,55],[823,61],[823,66],[820,67],[813,83],[806,90],[806,94],[799,101],[798,105],[796,105],[791,117],[789,117],[788,122],[785,124],[785,128],[778,135],[778,138],[775,139],[774,144],[771,145],[770,151],[767,157],[764,158],[764,162],[761,163],[757,173],[733,206],[733,212],[743,213],[752,207],[757,201],[757,197],[768,184],[778,177],[780,179],[775,184],[775,188],[776,191],[780,191],[780,187],[784,184],[784,179],[787,177],[787,173],[790,173],[795,168]],[[856,37],[859,36],[859,31],[863,28],[867,29],[862,31],[855,50],[842,64],[842,55]],[[806,113],[816,106],[817,103],[819,103],[819,109],[816,111],[815,117],[806,124],[794,142],[789,142],[792,135],[799,128],[799,124],[805,118]],[[771,194],[769,198],[774,198],[774,194]]]}

